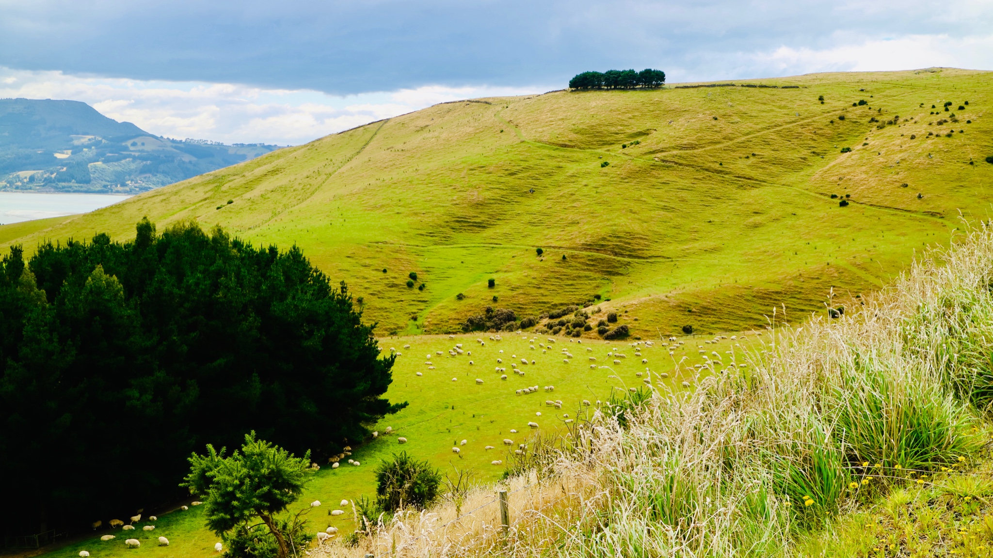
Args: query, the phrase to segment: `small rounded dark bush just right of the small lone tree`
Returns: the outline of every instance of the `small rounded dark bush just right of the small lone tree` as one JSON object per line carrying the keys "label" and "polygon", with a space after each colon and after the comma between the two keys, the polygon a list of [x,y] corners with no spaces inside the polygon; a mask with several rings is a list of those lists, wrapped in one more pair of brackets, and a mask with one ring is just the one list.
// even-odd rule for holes
{"label": "small rounded dark bush just right of the small lone tree", "polygon": [[438,497],[441,474],[426,461],[419,462],[406,452],[393,454],[375,470],[376,506],[383,511],[401,507],[424,509]]}

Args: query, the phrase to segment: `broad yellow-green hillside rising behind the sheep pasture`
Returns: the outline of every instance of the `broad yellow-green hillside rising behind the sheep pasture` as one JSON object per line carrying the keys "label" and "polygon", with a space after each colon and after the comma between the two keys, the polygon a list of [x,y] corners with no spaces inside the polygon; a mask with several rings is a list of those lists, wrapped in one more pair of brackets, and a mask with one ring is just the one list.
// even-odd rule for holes
{"label": "broad yellow-green hillside rising behind the sheep pasture", "polygon": [[380,335],[597,296],[638,337],[740,331],[872,290],[960,212],[985,218],[991,93],[991,72],[929,69],[445,103],[0,242],[218,224],[300,245]]}

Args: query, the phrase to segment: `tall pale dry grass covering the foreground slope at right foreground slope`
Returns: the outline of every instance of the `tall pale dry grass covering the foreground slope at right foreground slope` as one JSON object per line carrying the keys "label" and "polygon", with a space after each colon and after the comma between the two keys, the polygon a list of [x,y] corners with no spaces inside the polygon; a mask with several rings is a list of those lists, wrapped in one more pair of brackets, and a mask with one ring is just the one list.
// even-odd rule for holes
{"label": "tall pale dry grass covering the foreground slope at right foreground slope", "polygon": [[[790,543],[894,482],[961,463],[993,401],[993,234],[924,254],[840,320],[774,330],[658,382],[624,420],[598,411],[556,459],[370,529],[327,556],[788,556]],[[855,312],[852,312],[852,311]],[[779,319],[779,318],[776,318]],[[776,325],[776,324],[773,324]],[[657,379],[656,379],[657,381]],[[514,491],[515,490],[515,491]]]}

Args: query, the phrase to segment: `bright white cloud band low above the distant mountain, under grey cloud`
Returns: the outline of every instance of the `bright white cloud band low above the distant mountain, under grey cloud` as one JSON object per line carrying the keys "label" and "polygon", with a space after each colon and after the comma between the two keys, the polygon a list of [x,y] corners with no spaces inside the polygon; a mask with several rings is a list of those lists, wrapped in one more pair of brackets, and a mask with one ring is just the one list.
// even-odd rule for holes
{"label": "bright white cloud band low above the distant mountain, under grey cloud", "polygon": [[233,83],[83,77],[0,68],[0,97],[89,103],[156,135],[224,143],[295,145],[438,102],[541,92],[553,87],[445,87],[333,96]]}

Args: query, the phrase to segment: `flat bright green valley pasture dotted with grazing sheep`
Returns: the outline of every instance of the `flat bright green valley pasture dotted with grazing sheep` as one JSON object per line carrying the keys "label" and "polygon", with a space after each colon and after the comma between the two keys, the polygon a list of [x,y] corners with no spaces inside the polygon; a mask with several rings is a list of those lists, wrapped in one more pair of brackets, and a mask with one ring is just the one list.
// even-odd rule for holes
{"label": "flat bright green valley pasture dotted with grazing sheep", "polygon": [[[509,454],[517,449],[518,444],[526,444],[528,438],[534,435],[534,430],[527,426],[528,422],[538,423],[540,430],[560,430],[565,426],[566,415],[573,420],[585,417],[596,406],[597,400],[609,399],[612,391],[623,396],[631,387],[643,385],[643,378],[649,377],[645,374],[646,369],[651,371],[650,377],[656,385],[664,383],[672,389],[686,389],[682,381],[688,381],[692,386],[696,379],[693,364],[705,363],[704,353],[707,359],[717,360],[718,356],[713,354],[717,352],[720,362],[726,367],[732,359],[738,363],[744,362],[746,350],[761,346],[763,337],[751,332],[745,335],[747,337],[744,339],[740,338],[741,334],[735,335],[739,338],[736,340],[730,339],[731,335],[726,335],[727,340],[704,336],[681,337],[679,341],[683,345],[674,349],[671,356],[668,348],[676,347],[676,344],[670,345],[657,339],[652,347],[638,346],[641,356],[636,356],[630,340],[618,343],[590,339],[570,341],[526,333],[503,333],[499,336],[501,341],[490,341],[493,334],[459,335],[454,336],[455,339],[449,339],[449,336],[382,339],[380,347],[384,353],[390,349],[400,353],[393,367],[393,384],[387,396],[391,401],[407,401],[410,405],[376,426],[380,433],[378,438],[367,440],[364,444],[354,444],[353,455],[343,460],[338,469],[322,464],[299,500],[299,507],[306,508],[314,500],[321,501],[320,507],[312,507],[308,512],[312,530],[324,530],[334,525],[343,533],[351,531],[355,525],[353,508],[351,503],[341,506],[341,500],[351,502],[361,494],[374,497],[373,472],[376,465],[401,450],[430,461],[443,473],[454,473],[455,468],[472,470],[477,483],[495,482],[508,465]],[[486,345],[479,344],[477,339],[482,339]],[[549,339],[555,341],[549,343]],[[533,344],[531,340],[535,340]],[[708,343],[711,341],[714,343]],[[448,350],[454,349],[457,344],[461,344],[466,353],[449,355]],[[535,349],[530,349],[532,345]],[[410,348],[405,349],[404,346]],[[564,356],[562,349],[566,349],[572,357]],[[441,355],[437,354],[439,350]],[[733,354],[728,354],[728,350]],[[608,356],[608,352],[620,352],[625,356]],[[429,353],[431,357],[427,358]],[[517,356],[518,369],[524,371],[522,376],[511,371],[513,355]],[[591,356],[596,360],[590,360]],[[534,360],[535,363],[520,363],[520,358],[524,357],[528,362]],[[502,362],[497,363],[497,358]],[[642,358],[647,359],[647,363],[642,363]],[[615,359],[621,360],[621,363],[615,364]],[[470,360],[474,363],[470,364]],[[432,364],[425,363],[428,361]],[[681,362],[678,368],[677,362]],[[591,364],[597,367],[591,368]],[[429,366],[434,366],[434,369],[429,369]],[[505,367],[507,371],[497,372],[497,366]],[[417,372],[423,375],[418,376]],[[638,376],[638,372],[642,375]],[[668,377],[662,378],[662,373]],[[709,372],[703,370],[702,373]],[[501,380],[502,374],[506,374],[507,379]],[[452,381],[453,377],[458,378],[457,381]],[[477,378],[484,383],[477,384]],[[516,389],[533,385],[539,386],[537,392],[515,394]],[[555,390],[544,391],[542,388],[546,385],[554,385]],[[584,399],[592,405],[585,407],[582,404]],[[546,405],[546,400],[561,400],[562,409],[556,410]],[[539,412],[541,416],[536,415]],[[393,429],[391,435],[384,434],[387,426]],[[517,432],[512,433],[511,430]],[[408,442],[398,444],[398,437],[405,437]],[[502,443],[504,438],[513,440],[514,445],[505,446]],[[460,445],[462,440],[467,441],[465,446]],[[486,446],[494,446],[494,449],[486,450]],[[460,453],[453,453],[453,447],[458,447]],[[348,459],[358,461],[360,465],[349,465]],[[497,460],[502,461],[502,465],[492,465]],[[338,508],[346,513],[332,516],[330,512]],[[158,513],[158,520],[154,522],[156,528],[150,532],[141,530],[142,526],[153,524],[145,520],[136,523],[133,531],[101,529],[91,536],[44,552],[44,555],[69,558],[76,556],[80,550],[86,550],[93,558],[213,556],[216,555],[213,544],[219,539],[204,526],[202,510],[193,506],[188,510]],[[146,512],[156,513],[157,510]],[[104,524],[108,519],[104,518]],[[126,520],[127,517],[121,519]],[[116,538],[100,541],[99,537],[103,534],[113,534]],[[159,536],[169,539],[168,547],[158,545]],[[124,545],[126,538],[139,539],[141,547],[127,548]]]}

